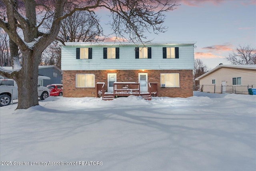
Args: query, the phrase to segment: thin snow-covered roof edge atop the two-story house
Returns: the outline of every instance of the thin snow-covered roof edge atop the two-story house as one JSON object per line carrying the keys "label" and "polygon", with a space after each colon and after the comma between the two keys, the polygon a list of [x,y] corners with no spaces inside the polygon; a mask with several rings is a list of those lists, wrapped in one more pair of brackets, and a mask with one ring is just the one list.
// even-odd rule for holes
{"label": "thin snow-covered roof edge atop the two-story house", "polygon": [[[65,42],[66,46],[194,45],[196,42]],[[59,46],[64,46],[59,43]]]}

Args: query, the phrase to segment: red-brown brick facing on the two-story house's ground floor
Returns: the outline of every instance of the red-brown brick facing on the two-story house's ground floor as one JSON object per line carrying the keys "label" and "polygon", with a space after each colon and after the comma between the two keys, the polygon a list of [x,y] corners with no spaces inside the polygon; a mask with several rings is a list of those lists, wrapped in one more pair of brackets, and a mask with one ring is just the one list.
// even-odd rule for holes
{"label": "red-brown brick facing on the two-story house's ground floor", "polygon": [[[117,82],[138,82],[138,73],[148,73],[149,83],[158,83],[158,97],[193,96],[192,70],[97,70],[97,71],[63,71],[64,97],[96,97],[97,82],[107,83],[108,73],[117,74]],[[180,87],[160,87],[161,73],[180,73]],[[95,74],[95,87],[76,88],[76,74]]]}

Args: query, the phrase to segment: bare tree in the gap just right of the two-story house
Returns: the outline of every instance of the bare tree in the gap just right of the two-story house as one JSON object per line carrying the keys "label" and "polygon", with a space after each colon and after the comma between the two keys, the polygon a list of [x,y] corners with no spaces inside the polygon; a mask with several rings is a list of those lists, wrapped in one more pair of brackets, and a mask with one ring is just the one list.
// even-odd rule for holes
{"label": "bare tree in the gap just right of the two-story house", "polygon": [[208,67],[204,64],[204,62],[200,59],[195,59],[193,70],[194,91],[198,91],[200,88],[199,81],[196,81],[195,79],[202,76],[206,72],[208,72]]}

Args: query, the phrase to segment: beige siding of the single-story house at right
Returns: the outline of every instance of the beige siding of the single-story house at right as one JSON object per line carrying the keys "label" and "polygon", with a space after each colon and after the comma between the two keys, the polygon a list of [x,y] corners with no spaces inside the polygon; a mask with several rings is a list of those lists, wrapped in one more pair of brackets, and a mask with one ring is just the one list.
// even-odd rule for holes
{"label": "beige siding of the single-story house at right", "polygon": [[[221,92],[221,83],[226,81],[226,86],[232,86],[232,78],[241,77],[242,85],[253,85],[256,87],[256,70],[255,69],[240,69],[240,68],[220,68],[212,74],[200,79],[200,85],[214,85],[212,80],[215,80],[216,93]],[[204,87],[206,87],[204,86]],[[210,86],[208,86],[209,88]],[[207,91],[207,90],[206,90]]]}

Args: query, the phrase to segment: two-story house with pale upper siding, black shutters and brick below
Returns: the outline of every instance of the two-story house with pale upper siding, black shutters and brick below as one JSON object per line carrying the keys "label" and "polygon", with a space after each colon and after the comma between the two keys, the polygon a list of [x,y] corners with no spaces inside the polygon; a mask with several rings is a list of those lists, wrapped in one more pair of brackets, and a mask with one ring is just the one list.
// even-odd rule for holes
{"label": "two-story house with pale upper siding, black shutters and brick below", "polygon": [[[156,85],[158,97],[193,95],[196,42],[67,42],[61,69],[65,97],[97,97],[98,84],[115,91],[115,84],[138,84],[139,95]],[[132,90],[135,89],[129,89]],[[137,90],[137,89],[136,89]],[[130,91],[129,91],[130,92]]]}

